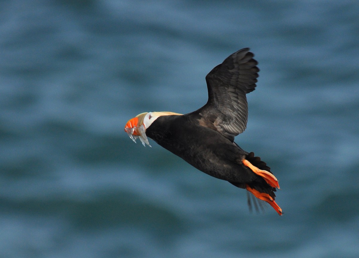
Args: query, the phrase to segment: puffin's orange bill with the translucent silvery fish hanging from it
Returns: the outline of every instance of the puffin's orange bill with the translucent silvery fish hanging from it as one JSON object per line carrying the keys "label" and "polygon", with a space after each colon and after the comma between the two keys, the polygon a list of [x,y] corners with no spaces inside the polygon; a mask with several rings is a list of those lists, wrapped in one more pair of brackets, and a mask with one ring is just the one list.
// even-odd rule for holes
{"label": "puffin's orange bill with the translucent silvery fish hanging from it", "polygon": [[129,121],[127,121],[125,125],[125,132],[135,143],[136,143],[136,139],[139,138],[143,146],[146,146],[145,144],[147,144],[148,146],[152,147],[148,142],[146,136],[146,128],[145,125],[143,124],[143,119],[146,114],[148,114],[148,112],[138,114],[134,118],[131,118]]}

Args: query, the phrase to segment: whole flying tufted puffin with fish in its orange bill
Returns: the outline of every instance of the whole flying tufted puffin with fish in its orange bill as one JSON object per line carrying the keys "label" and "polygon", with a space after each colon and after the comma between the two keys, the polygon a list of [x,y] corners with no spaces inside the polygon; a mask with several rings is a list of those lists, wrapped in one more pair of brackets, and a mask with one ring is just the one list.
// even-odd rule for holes
{"label": "whole flying tufted puffin with fish in its orange bill", "polygon": [[144,146],[150,146],[147,137],[153,139],[196,169],[246,189],[282,215],[274,193],[279,184],[270,167],[234,142],[246,129],[246,94],[255,90],[259,72],[249,50],[234,52],[206,75],[208,102],[200,109],[184,115],[144,112],[126,123],[125,132]]}

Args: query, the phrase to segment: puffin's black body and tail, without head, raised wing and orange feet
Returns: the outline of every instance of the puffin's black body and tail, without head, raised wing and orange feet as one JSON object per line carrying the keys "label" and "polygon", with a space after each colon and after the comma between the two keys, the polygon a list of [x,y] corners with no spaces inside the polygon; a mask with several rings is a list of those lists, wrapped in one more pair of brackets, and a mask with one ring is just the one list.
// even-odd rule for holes
{"label": "puffin's black body and tail, without head, raised wing and orange feet", "polygon": [[[250,184],[261,192],[275,191],[263,178],[243,165],[244,158],[251,158],[248,152],[217,131],[199,125],[192,114],[160,116],[146,130],[146,135],[210,176],[240,188]],[[266,163],[256,158],[257,161],[251,159],[254,164],[270,171]],[[274,193],[271,195],[275,197]]]}

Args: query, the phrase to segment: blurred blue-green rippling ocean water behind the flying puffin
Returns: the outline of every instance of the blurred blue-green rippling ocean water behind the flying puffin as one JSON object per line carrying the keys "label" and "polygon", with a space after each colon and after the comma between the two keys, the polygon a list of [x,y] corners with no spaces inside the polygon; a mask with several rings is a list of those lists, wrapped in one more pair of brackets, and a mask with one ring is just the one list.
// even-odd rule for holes
{"label": "blurred blue-green rippling ocean water behind the flying puffin", "polygon": [[[359,1],[0,1],[1,258],[359,257]],[[187,113],[260,68],[236,137],[283,216],[127,120]]]}

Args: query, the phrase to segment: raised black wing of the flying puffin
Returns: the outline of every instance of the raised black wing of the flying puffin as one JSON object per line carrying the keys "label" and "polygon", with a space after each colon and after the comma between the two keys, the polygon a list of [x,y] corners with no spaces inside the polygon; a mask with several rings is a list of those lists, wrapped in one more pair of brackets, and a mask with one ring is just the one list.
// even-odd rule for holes
{"label": "raised black wing of the flying puffin", "polygon": [[253,56],[249,48],[241,49],[213,68],[206,76],[208,102],[188,115],[232,141],[242,133],[248,118],[246,93],[254,91],[259,72]]}

